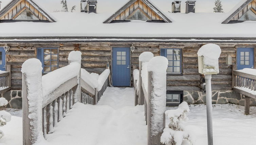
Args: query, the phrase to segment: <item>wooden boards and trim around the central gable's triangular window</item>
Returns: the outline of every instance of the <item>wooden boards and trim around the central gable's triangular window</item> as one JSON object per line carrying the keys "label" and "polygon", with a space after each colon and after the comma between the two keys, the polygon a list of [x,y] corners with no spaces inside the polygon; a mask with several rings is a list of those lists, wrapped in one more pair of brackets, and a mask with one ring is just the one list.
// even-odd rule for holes
{"label": "wooden boards and trim around the central gable's triangular window", "polygon": [[140,7],[145,13],[148,10],[150,10],[150,15],[147,15],[150,17],[151,20],[163,20],[166,23],[171,23],[169,18],[167,18],[159,9],[157,9],[148,0],[130,0],[103,23],[111,23],[113,20],[125,20],[125,18],[127,18],[137,7]]}

